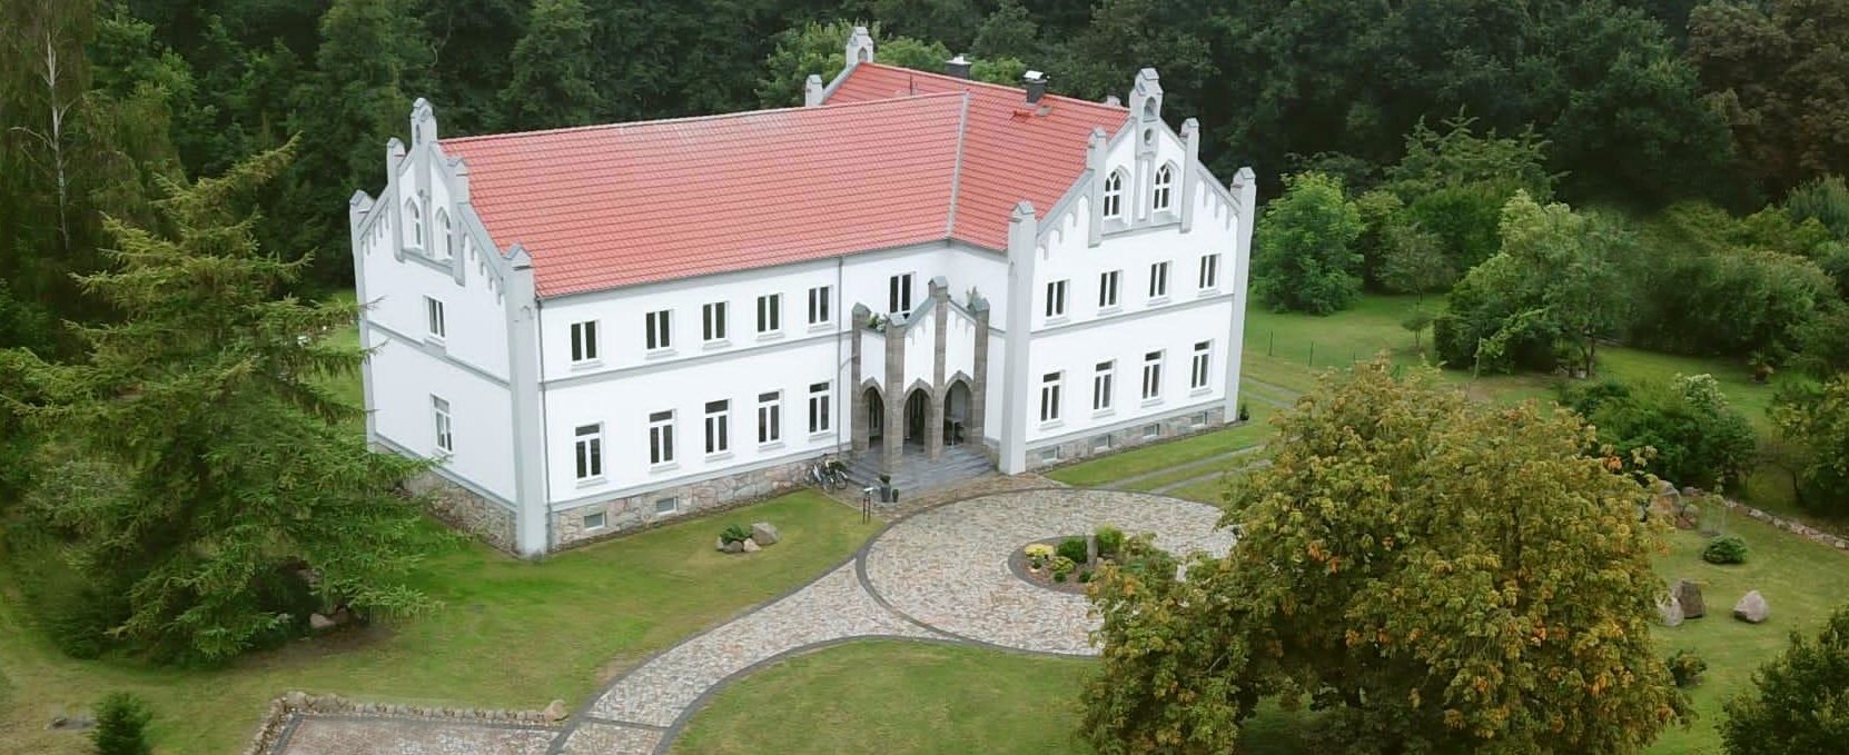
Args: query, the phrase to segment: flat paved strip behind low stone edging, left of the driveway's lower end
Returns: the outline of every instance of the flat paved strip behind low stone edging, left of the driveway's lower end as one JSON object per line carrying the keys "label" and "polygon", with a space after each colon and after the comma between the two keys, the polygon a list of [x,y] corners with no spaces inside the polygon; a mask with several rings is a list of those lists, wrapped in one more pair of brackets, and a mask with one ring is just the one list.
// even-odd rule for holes
{"label": "flat paved strip behind low stone edging, left of the driveway's lower end", "polygon": [[301,716],[288,755],[542,755],[558,729],[407,718]]}

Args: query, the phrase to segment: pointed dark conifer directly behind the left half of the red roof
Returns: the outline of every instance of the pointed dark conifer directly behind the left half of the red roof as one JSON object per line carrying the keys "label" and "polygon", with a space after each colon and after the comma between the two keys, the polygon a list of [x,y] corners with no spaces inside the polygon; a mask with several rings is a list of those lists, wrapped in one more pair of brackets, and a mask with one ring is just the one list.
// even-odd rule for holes
{"label": "pointed dark conifer directly behind the left half of the red roof", "polygon": [[501,90],[501,124],[512,131],[584,126],[597,111],[595,57],[584,0],[538,0],[514,44],[514,78]]}

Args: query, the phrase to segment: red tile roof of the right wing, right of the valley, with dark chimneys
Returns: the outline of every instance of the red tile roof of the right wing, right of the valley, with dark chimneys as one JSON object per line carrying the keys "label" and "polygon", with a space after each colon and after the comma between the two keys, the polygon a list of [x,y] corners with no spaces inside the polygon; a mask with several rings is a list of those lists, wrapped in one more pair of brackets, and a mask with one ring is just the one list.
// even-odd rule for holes
{"label": "red tile roof of the right wing, right of the valley, with dark chimneys", "polygon": [[878,63],[854,66],[828,103],[937,92],[971,96],[952,236],[991,249],[1008,246],[1008,216],[1015,203],[1032,201],[1045,216],[1072,188],[1085,172],[1091,129],[1115,135],[1130,118],[1130,111],[1117,105],[1048,94],[1035,107],[1015,87]]}

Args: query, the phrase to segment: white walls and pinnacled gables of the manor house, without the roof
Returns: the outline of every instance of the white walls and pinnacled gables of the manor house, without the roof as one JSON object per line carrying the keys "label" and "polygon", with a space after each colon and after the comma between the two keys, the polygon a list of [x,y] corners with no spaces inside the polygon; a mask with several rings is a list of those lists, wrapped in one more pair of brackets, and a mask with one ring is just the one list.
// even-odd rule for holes
{"label": "white walls and pinnacled gables of the manor house, without the roof", "polygon": [[[934,391],[1004,473],[1154,421],[1231,421],[1255,181],[1228,190],[1200,166],[1194,122],[1176,133],[1159,114],[1146,70],[1124,127],[1093,137],[1065,199],[1017,209],[1006,249],[943,240],[542,299],[529,255],[470,209],[468,168],[420,102],[385,192],[351,207],[368,439],[436,460],[488,519],[512,521],[505,546],[534,556],[723,502],[723,480],[876,452],[867,413],[897,423],[895,388]],[[912,318],[891,312],[895,279]],[[986,397],[980,415],[945,406],[952,382]],[[869,395],[884,406],[856,404]]]}

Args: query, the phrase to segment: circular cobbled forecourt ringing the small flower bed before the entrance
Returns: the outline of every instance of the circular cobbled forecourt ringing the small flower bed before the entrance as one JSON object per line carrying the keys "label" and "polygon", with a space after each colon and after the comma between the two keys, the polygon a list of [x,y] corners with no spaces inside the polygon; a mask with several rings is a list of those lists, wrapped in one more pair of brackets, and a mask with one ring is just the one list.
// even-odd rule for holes
{"label": "circular cobbled forecourt ringing the small flower bed before the entrance", "polygon": [[1220,509],[1146,493],[1032,489],[967,498],[893,524],[862,556],[865,583],[888,607],[932,629],[976,642],[1063,655],[1096,655],[1089,602],[1030,585],[1008,569],[1022,545],[1084,535],[1109,524],[1154,533],[1185,556],[1226,556]]}

